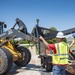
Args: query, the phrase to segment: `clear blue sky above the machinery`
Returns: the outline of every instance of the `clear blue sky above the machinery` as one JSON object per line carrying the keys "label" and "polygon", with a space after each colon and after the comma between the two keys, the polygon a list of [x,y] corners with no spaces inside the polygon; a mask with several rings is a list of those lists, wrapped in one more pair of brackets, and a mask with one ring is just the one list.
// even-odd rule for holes
{"label": "clear blue sky above the machinery", "polygon": [[20,18],[31,32],[40,19],[40,26],[57,30],[75,27],[75,0],[0,0],[0,21],[12,28]]}

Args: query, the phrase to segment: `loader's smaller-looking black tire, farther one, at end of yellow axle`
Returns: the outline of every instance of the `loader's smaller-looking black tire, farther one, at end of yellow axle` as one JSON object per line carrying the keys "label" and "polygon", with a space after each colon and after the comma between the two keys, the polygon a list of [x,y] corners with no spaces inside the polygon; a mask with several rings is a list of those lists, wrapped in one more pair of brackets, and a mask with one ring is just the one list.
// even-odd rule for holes
{"label": "loader's smaller-looking black tire, farther one, at end of yellow axle", "polygon": [[23,47],[23,46],[18,46],[16,49],[19,52],[21,52],[23,58],[21,60],[15,61],[14,63],[17,66],[20,66],[20,67],[26,66],[31,60],[31,53],[30,53],[30,51],[27,48]]}

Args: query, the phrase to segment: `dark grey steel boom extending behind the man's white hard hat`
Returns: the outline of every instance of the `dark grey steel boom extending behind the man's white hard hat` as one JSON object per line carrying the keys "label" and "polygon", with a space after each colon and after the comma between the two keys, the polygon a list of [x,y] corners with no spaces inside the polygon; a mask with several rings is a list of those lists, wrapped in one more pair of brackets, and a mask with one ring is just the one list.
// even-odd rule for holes
{"label": "dark grey steel boom extending behind the man's white hard hat", "polygon": [[[49,33],[45,33],[46,30]],[[44,27],[40,27],[36,25],[34,29],[32,30],[31,34],[34,35],[36,38],[39,38],[39,35],[41,35],[44,37],[44,39],[48,40],[48,39],[55,38],[58,32],[59,31],[50,30],[48,28],[44,28]],[[62,32],[64,33],[64,35],[69,35],[69,34],[75,33],[75,28],[63,30]]]}

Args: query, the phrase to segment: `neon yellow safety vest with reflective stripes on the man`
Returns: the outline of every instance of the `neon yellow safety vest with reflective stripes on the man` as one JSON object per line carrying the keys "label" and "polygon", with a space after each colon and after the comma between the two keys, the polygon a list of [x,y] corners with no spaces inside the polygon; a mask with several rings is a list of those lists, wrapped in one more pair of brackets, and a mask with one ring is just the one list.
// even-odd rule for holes
{"label": "neon yellow safety vest with reflective stripes on the man", "polygon": [[65,42],[55,44],[56,54],[53,54],[54,64],[68,64],[68,45]]}

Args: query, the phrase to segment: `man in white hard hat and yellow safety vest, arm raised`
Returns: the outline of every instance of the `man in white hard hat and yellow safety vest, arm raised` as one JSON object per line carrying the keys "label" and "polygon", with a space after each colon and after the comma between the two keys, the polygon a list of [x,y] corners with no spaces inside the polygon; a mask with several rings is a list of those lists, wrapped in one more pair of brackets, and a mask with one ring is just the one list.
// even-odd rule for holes
{"label": "man in white hard hat and yellow safety vest, arm raised", "polygon": [[56,36],[57,43],[48,44],[45,39],[40,36],[40,39],[44,42],[46,47],[54,52],[52,56],[53,75],[66,75],[65,68],[68,65],[69,46],[63,41],[63,38],[65,38],[64,34],[58,32]]}

